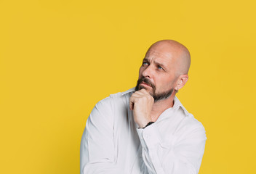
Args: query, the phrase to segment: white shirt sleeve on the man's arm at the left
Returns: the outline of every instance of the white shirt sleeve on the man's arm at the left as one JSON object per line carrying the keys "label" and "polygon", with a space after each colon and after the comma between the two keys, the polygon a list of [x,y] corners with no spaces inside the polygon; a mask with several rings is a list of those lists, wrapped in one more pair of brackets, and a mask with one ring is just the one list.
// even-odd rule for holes
{"label": "white shirt sleeve on the man's arm at the left", "polygon": [[80,145],[81,174],[121,173],[114,162],[113,104],[108,97],[92,109]]}

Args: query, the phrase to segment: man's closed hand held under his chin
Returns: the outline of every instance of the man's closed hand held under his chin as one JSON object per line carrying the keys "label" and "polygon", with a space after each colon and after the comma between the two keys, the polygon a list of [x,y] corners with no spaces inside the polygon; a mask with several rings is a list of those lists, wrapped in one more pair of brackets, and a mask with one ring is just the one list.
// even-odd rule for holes
{"label": "man's closed hand held under his chin", "polygon": [[153,97],[148,94],[145,89],[135,91],[129,99],[129,109],[133,110],[135,123],[140,128],[145,127],[148,122],[151,122],[151,109],[153,106]]}

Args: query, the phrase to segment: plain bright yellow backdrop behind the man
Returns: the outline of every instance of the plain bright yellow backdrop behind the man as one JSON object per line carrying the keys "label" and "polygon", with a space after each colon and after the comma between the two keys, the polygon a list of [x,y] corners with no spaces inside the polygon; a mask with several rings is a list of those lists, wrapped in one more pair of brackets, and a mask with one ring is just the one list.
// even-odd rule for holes
{"label": "plain bright yellow backdrop behind the man", "polygon": [[256,173],[255,4],[0,1],[0,173],[79,173],[92,108],[165,38],[191,51],[177,96],[207,131],[200,173]]}

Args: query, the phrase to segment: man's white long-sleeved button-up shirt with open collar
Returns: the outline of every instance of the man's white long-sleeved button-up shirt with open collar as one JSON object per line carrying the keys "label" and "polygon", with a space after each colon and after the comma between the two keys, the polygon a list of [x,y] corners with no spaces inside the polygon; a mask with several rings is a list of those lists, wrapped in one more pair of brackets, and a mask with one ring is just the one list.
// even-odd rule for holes
{"label": "man's white long-sleeved button-up shirt with open collar", "polygon": [[138,128],[129,109],[135,88],[99,101],[81,138],[81,174],[199,173],[203,125],[175,96],[155,123]]}

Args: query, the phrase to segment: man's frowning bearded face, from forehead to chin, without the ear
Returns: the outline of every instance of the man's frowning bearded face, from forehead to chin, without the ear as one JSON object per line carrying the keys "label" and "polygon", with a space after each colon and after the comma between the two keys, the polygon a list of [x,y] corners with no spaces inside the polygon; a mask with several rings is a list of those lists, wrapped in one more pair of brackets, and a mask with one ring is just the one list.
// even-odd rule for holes
{"label": "man's frowning bearded face, from forehead to chin, without the ear", "polygon": [[167,99],[175,88],[175,58],[164,48],[148,51],[140,67],[135,91],[145,88],[155,101]]}

